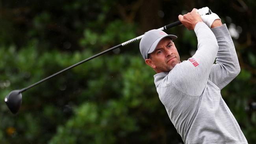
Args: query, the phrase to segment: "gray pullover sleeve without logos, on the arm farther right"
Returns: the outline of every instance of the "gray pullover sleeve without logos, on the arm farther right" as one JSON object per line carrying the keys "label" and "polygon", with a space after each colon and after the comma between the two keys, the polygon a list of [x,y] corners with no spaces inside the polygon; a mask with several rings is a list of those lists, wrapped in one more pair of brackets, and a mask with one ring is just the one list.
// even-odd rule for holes
{"label": "gray pullover sleeve without logos, on the arm farther right", "polygon": [[240,72],[236,49],[226,24],[211,29],[217,39],[219,50],[216,64],[211,67],[209,79],[223,89]]}

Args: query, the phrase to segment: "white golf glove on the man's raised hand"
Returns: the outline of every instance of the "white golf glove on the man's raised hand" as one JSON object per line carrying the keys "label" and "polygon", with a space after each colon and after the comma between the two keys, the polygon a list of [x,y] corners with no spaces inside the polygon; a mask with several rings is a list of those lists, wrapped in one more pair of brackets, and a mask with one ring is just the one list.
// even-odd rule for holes
{"label": "white golf glove on the man's raised hand", "polygon": [[221,18],[219,18],[219,16],[216,13],[211,13],[210,15],[206,15],[206,13],[208,13],[208,12],[209,12],[209,8],[208,7],[203,7],[201,9],[197,10],[197,13],[199,15],[201,15],[201,18],[202,18],[203,22],[209,28],[211,28],[211,24],[214,22],[214,20],[221,19]]}

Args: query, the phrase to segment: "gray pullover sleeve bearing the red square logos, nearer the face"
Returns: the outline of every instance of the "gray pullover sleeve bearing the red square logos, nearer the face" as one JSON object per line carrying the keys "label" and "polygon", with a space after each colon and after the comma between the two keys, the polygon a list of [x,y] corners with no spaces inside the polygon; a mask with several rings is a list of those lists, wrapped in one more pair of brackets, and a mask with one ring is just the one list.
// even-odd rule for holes
{"label": "gray pullover sleeve bearing the red square logos, nearer the face", "polygon": [[174,66],[168,75],[176,89],[190,96],[202,94],[219,48],[215,35],[206,24],[198,22],[194,31],[198,41],[195,55]]}

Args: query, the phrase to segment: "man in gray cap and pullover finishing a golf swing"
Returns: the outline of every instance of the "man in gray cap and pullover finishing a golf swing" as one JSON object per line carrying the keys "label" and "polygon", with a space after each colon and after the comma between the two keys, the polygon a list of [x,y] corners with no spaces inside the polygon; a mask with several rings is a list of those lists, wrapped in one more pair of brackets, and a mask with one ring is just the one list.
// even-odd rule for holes
{"label": "man in gray cap and pullover finishing a golf swing", "polygon": [[160,30],[144,35],[140,51],[157,73],[160,100],[186,144],[247,144],[220,93],[240,72],[236,50],[226,25],[215,13],[200,17],[202,9],[178,16],[197,35],[197,51],[187,61],[180,62],[177,37]]}

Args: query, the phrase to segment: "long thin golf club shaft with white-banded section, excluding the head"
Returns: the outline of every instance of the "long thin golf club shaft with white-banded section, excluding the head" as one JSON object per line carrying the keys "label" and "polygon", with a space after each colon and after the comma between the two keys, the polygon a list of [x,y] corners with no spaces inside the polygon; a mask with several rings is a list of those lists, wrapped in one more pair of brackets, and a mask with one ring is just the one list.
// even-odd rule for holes
{"label": "long thin golf club shaft with white-banded section, excluding the head", "polygon": [[[174,27],[174,26],[178,26],[178,25],[180,25],[180,24],[181,24],[181,22],[178,20],[178,21],[176,21],[176,22],[173,22],[173,23],[171,23],[171,24],[168,24],[168,25],[166,25],[166,26],[163,26],[162,28],[159,28],[159,30],[167,30],[167,29],[169,29],[169,28],[172,28],[172,27]],[[54,76],[57,76],[58,74],[61,74],[62,72],[65,72],[65,71],[67,71],[67,70],[69,70],[69,69],[71,69],[71,68],[74,68],[75,66],[81,65],[82,63],[85,63],[86,61],[89,61],[89,60],[91,60],[91,59],[94,59],[95,57],[98,57],[98,56],[100,56],[100,55],[103,55],[103,54],[105,54],[105,53],[107,53],[107,52],[109,52],[109,51],[111,51],[111,50],[114,50],[114,49],[116,49],[116,48],[120,48],[120,47],[125,46],[125,45],[127,45],[127,44],[130,44],[130,43],[132,43],[132,42],[134,42],[134,41],[140,40],[143,36],[144,36],[144,35],[141,35],[141,36],[136,37],[136,38],[134,38],[134,39],[131,39],[131,40],[129,40],[129,41],[123,42],[122,44],[119,44],[119,45],[117,45],[117,46],[114,46],[114,47],[112,47],[112,48],[109,48],[108,50],[105,50],[105,51],[100,52],[100,53],[98,53],[98,54],[96,54],[96,55],[93,55],[92,57],[89,57],[89,58],[87,58],[87,59],[84,59],[83,61],[80,61],[80,62],[78,62],[78,63],[76,63],[76,64],[74,64],[74,65],[72,65],[72,66],[69,66],[69,67],[67,67],[67,68],[65,68],[65,69],[63,69],[63,70],[61,70],[61,71],[59,71],[59,72],[56,72],[55,74],[52,74],[51,76],[48,76],[47,78],[44,78],[44,79],[42,79],[41,81],[38,81],[37,83],[34,83],[34,84],[32,84],[32,85],[30,85],[30,86],[28,86],[28,87],[25,87],[25,88],[21,89],[20,92],[24,92],[24,91],[26,91],[26,90],[28,90],[28,89],[30,89],[30,88],[32,88],[32,87],[34,87],[34,86],[36,86],[36,85],[38,85],[38,84],[44,82],[44,81],[46,81],[46,80],[48,80],[48,79],[50,79],[50,78],[52,78],[52,77],[54,77]]]}

